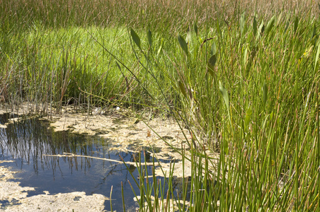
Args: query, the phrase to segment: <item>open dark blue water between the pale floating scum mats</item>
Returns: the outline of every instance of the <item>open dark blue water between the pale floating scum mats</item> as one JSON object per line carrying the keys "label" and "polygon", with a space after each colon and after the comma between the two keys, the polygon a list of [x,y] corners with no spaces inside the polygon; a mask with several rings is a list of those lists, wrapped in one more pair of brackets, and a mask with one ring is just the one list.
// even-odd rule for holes
{"label": "open dark blue water between the pale floating scum mats", "polygon": [[[0,124],[8,122],[12,117],[13,114],[0,115]],[[121,182],[126,208],[137,206],[133,201],[134,194],[128,180],[139,194],[130,172],[123,163],[82,157],[45,156],[74,153],[112,160],[120,160],[121,156],[125,161],[135,161],[133,153],[109,151],[113,146],[112,140],[101,139],[98,136],[71,134],[66,131],[54,132],[47,122],[35,118],[25,118],[8,124],[6,129],[0,128],[0,160],[14,161],[2,165],[19,170],[15,176],[22,187],[36,188],[35,192],[28,192],[28,196],[44,194],[43,191],[49,191],[50,194],[86,192],[87,195],[110,196],[113,186],[113,210],[122,211]],[[152,157],[144,157],[142,154],[140,160],[152,162]],[[137,179],[137,168],[130,165],[129,169]],[[148,172],[152,172],[152,167],[148,167]],[[110,201],[105,201],[105,210],[110,210]]]}

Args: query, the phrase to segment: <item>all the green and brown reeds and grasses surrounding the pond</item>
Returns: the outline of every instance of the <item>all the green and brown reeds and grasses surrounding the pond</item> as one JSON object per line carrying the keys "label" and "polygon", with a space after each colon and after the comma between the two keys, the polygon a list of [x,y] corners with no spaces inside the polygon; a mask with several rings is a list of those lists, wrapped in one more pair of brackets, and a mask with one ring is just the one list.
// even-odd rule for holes
{"label": "all the green and brown reeds and grasses surrounding the pond", "polygon": [[174,164],[166,190],[140,164],[140,211],[319,211],[317,1],[18,0],[0,11],[10,110],[122,107],[188,129],[177,151],[190,187],[164,199]]}

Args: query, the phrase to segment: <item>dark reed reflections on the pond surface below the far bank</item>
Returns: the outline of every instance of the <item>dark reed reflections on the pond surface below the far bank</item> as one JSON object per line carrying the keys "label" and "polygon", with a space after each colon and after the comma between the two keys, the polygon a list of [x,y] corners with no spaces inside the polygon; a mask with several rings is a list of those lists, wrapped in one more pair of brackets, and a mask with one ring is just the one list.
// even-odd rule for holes
{"label": "dark reed reflections on the pond surface below the far bank", "polygon": [[[2,115],[0,122],[8,122],[8,115]],[[86,173],[93,161],[92,158],[76,157],[47,157],[44,155],[57,155],[74,153],[77,155],[90,155],[100,158],[112,158],[115,152],[108,151],[109,142],[93,136],[69,134],[66,131],[54,132],[48,128],[48,123],[39,119],[20,119],[18,122],[8,124],[6,129],[0,129],[2,157],[9,155],[13,159],[20,160],[20,166],[33,165],[35,173],[39,170],[52,170],[61,172],[59,163],[61,160],[69,165],[70,172],[83,170]],[[4,153],[6,151],[6,153]],[[124,158],[131,154],[125,153]],[[131,160],[130,158],[130,160]],[[119,158],[117,158],[119,159]],[[103,161],[105,165],[113,165]]]}

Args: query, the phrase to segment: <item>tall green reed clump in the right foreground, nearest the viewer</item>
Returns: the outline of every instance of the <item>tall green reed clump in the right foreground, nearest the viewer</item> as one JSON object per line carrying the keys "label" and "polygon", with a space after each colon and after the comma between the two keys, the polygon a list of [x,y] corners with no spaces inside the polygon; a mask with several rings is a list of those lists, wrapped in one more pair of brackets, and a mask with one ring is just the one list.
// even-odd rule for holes
{"label": "tall green reed clump in the right foreground, nearest the viewer", "polygon": [[[181,107],[174,108],[176,117],[192,126],[193,139],[198,141],[203,140],[197,134],[205,129],[199,120],[215,120],[220,145],[217,170],[212,175],[217,176],[217,184],[210,186],[219,195],[215,199],[198,193],[207,183],[209,169],[200,160],[206,157],[205,151],[199,152],[202,143],[190,142],[196,157],[189,159],[198,175],[192,175],[196,189],[191,188],[195,196],[190,211],[202,211],[210,204],[223,211],[314,211],[319,207],[319,159],[315,156],[319,146],[319,71],[314,72],[319,62],[319,34],[314,33],[317,20],[298,18],[292,22],[288,17],[280,13],[265,24],[253,18],[251,26],[241,16],[240,29],[228,24],[222,28],[217,23],[212,40],[218,41],[211,49],[217,45],[219,50],[205,54],[207,58],[211,55],[208,64],[200,54],[192,58],[193,45],[178,35],[176,43],[181,51],[171,59],[176,74],[170,75],[176,76],[176,81],[168,79],[173,91],[180,93]],[[186,36],[189,39],[190,35]],[[135,43],[139,46],[140,41]],[[205,78],[212,80],[212,87],[199,86]],[[217,79],[225,86],[219,83],[218,88]],[[199,99],[209,98],[201,93],[216,95],[213,102],[219,107],[207,105],[210,101],[201,104]],[[202,112],[210,106],[219,117]]]}

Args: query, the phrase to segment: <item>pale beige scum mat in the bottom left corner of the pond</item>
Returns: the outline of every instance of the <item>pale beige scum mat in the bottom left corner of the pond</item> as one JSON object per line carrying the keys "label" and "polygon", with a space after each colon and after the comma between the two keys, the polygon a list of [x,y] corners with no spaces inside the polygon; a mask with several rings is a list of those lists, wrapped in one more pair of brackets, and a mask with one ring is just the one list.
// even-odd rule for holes
{"label": "pale beige scum mat in the bottom left corner of the pond", "polygon": [[104,211],[108,198],[102,194],[86,195],[85,192],[44,194],[28,196],[33,187],[21,187],[15,171],[2,166],[10,161],[0,161],[0,211]]}

